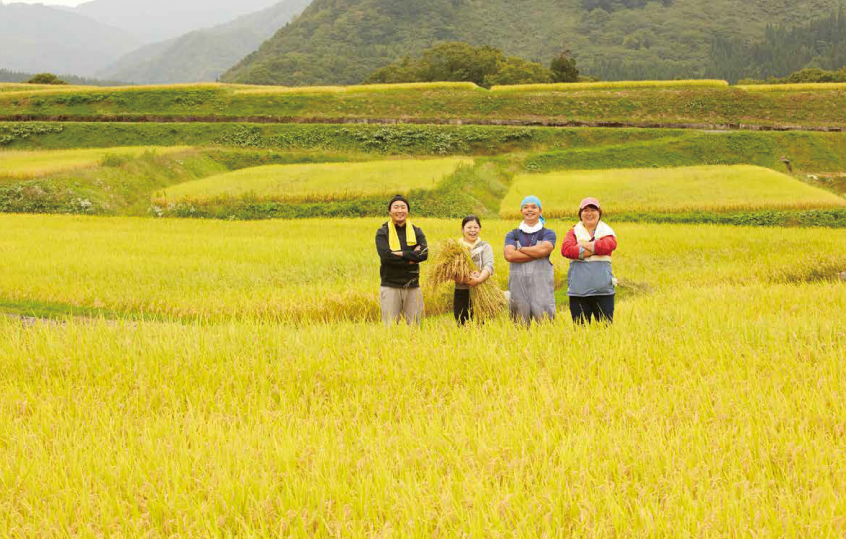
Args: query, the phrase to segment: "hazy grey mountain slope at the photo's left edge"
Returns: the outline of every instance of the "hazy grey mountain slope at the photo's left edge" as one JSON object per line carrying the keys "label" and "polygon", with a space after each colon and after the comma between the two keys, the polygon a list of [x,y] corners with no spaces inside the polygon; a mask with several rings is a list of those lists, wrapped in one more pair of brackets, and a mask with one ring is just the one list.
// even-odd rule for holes
{"label": "hazy grey mountain slope at the photo's left edge", "polygon": [[0,4],[0,68],[93,75],[139,42],[115,27],[41,4]]}

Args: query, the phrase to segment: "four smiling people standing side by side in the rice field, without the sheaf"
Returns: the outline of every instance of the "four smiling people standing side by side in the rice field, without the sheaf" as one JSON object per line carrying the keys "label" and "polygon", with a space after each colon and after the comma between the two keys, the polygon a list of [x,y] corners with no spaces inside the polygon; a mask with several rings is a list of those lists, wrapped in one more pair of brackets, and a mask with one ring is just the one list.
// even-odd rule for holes
{"label": "four smiling people standing side by side in the rice field, without the sheaf", "polygon": [[[426,236],[408,220],[410,204],[402,195],[388,203],[390,220],[376,232],[376,251],[381,260],[380,304],[386,325],[405,320],[419,325],[423,314],[420,290],[420,263],[428,258]],[[509,308],[512,318],[522,324],[554,320],[555,273],[549,257],[557,236],[545,226],[541,201],[527,196],[520,205],[523,221],[505,236],[505,260],[508,276]],[[595,198],[579,204],[579,222],[567,232],[561,254],[569,259],[567,294],[574,322],[592,320],[611,323],[614,318],[615,284],[611,254],[617,238],[602,221],[602,207]],[[491,246],[479,234],[482,224],[470,215],[461,223],[462,243],[477,268],[471,277],[456,282],[453,315],[463,325],[473,317],[470,290],[493,275]]]}

